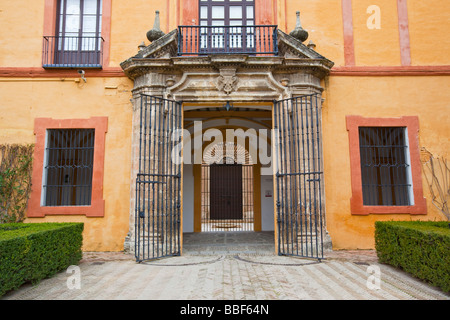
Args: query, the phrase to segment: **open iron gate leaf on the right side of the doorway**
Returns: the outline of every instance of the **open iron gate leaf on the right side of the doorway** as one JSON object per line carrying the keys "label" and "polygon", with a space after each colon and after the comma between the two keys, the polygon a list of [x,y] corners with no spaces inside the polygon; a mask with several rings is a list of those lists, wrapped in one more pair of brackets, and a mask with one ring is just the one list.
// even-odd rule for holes
{"label": "open iron gate leaf on the right side of the doorway", "polygon": [[274,103],[278,254],[323,258],[321,108],[317,94]]}

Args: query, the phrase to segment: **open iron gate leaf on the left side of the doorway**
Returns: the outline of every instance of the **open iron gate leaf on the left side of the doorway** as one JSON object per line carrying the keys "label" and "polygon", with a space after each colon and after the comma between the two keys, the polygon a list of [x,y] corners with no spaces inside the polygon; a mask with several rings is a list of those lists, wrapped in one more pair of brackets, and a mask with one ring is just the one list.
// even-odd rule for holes
{"label": "open iron gate leaf on the left side of the doorway", "polygon": [[[136,176],[136,261],[180,255],[181,163],[172,161],[181,129],[181,103],[140,96],[139,171]],[[179,136],[179,135],[175,135]]]}

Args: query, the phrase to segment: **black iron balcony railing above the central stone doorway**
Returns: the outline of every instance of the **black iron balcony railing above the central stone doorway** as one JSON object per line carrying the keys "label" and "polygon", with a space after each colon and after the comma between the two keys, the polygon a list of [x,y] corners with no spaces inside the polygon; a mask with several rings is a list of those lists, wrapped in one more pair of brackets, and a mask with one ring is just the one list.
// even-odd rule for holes
{"label": "black iron balcony railing above the central stone doorway", "polygon": [[277,55],[277,26],[179,26],[178,55]]}

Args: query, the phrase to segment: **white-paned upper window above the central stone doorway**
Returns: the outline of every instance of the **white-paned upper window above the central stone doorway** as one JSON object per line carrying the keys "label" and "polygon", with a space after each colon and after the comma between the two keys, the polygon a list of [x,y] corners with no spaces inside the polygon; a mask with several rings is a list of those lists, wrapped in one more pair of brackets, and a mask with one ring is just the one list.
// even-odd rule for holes
{"label": "white-paned upper window above the central stone doorway", "polygon": [[253,0],[200,0],[201,49],[255,49],[255,6]]}

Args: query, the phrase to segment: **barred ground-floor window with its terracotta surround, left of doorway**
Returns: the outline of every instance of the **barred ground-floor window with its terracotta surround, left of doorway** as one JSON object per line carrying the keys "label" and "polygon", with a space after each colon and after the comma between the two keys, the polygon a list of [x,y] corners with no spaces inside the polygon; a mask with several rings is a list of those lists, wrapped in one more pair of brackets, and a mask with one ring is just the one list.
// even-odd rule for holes
{"label": "barred ground-floor window with its terracotta surround, left of doorway", "polygon": [[27,216],[103,217],[108,118],[35,120],[32,191]]}

